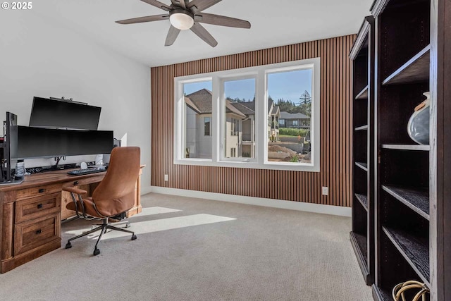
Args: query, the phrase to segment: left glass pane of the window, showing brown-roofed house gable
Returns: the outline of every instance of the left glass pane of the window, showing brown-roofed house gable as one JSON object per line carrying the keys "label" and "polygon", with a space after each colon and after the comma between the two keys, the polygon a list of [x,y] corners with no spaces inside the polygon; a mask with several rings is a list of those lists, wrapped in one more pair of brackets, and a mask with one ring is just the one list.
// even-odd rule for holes
{"label": "left glass pane of the window, showing brown-roofed house gable", "polygon": [[211,159],[211,80],[183,84],[184,158]]}

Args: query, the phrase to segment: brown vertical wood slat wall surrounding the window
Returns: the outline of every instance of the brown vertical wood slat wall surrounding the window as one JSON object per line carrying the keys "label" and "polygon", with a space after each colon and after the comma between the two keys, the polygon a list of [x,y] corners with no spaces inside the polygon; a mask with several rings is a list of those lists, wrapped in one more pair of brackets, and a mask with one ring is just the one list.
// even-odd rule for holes
{"label": "brown vertical wood slat wall surrounding the window", "polygon": [[[152,185],[350,207],[352,93],[348,55],[355,37],[347,35],[152,68]],[[174,77],[315,57],[321,58],[320,172],[173,164]],[[169,181],[164,181],[164,174],[168,174]],[[328,196],[321,195],[322,186],[328,186]]]}

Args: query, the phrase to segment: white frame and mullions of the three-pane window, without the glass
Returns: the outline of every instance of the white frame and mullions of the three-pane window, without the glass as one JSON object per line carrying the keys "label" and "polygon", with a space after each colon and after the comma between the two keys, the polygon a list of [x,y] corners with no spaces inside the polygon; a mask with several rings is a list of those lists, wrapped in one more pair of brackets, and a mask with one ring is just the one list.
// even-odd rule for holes
{"label": "white frame and mullions of the three-pane window, without the glass", "polygon": [[[273,162],[268,161],[268,137],[266,130],[256,130],[255,143],[265,147],[257,147],[255,159],[240,158],[240,161],[228,160],[222,158],[222,149],[220,149],[221,140],[223,138],[222,121],[225,115],[221,117],[221,93],[223,94],[224,80],[234,80],[235,78],[252,78],[256,77],[256,91],[255,91],[255,128],[266,129],[267,116],[266,111],[268,107],[268,95],[266,80],[268,73],[283,72],[288,70],[300,70],[302,68],[312,68],[312,90],[311,90],[311,117],[313,122],[310,124],[310,138],[313,152],[311,152],[310,164],[299,164],[288,162]],[[257,168],[257,169],[274,169],[274,170],[290,170],[290,171],[320,171],[320,154],[321,154],[321,132],[320,132],[320,100],[321,100],[321,59],[305,59],[300,61],[290,61],[286,63],[276,63],[271,65],[262,65],[249,68],[232,69],[225,71],[218,71],[214,73],[203,73],[196,75],[187,75],[174,78],[174,164],[183,165],[197,165],[197,166],[222,166],[222,167],[237,167],[237,168]],[[190,82],[202,82],[211,80],[212,82],[212,112],[211,112],[211,140],[212,140],[212,158],[211,159],[196,159],[184,158],[183,145],[185,145],[185,127],[183,126],[184,116],[184,99],[183,99],[183,85]],[[261,85],[264,83],[264,85]],[[257,102],[257,99],[264,99],[264,102]]]}

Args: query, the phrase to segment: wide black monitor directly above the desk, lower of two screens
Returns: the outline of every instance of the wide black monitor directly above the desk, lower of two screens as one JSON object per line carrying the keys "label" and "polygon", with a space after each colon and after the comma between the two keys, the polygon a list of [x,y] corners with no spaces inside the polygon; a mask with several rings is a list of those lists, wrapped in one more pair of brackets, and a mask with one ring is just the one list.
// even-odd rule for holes
{"label": "wide black monitor directly above the desk, lower of two screens", "polygon": [[110,154],[112,130],[57,130],[18,126],[18,159]]}

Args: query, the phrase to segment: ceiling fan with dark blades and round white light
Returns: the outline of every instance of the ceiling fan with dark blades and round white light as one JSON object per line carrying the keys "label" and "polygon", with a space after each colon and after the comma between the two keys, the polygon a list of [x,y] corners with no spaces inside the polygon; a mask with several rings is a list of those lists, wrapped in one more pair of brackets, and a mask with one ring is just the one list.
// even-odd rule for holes
{"label": "ceiling fan with dark blades and round white light", "polygon": [[169,27],[164,46],[171,46],[175,42],[175,39],[177,39],[180,30],[191,30],[211,47],[215,47],[218,42],[216,42],[216,39],[214,39],[214,37],[199,23],[238,28],[251,27],[251,23],[246,20],[218,16],[212,13],[202,13],[206,8],[217,4],[221,0],[171,0],[171,5],[169,6],[157,0],[141,1],[161,8],[163,11],[167,11],[167,13],[156,16],[120,20],[116,21],[116,23],[135,24],[169,19],[171,21],[171,27]]}

